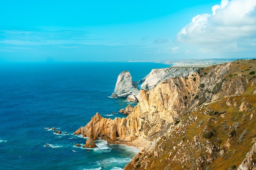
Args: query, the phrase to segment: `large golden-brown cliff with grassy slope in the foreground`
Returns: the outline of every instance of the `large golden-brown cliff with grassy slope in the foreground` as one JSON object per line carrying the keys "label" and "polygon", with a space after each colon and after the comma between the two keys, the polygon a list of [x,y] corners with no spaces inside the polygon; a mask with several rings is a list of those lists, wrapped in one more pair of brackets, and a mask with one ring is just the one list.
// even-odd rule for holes
{"label": "large golden-brown cliff with grassy slope in the foreground", "polygon": [[238,60],[168,78],[141,90],[128,117],[97,113],[75,134],[144,148],[125,170],[253,168],[255,65]]}

